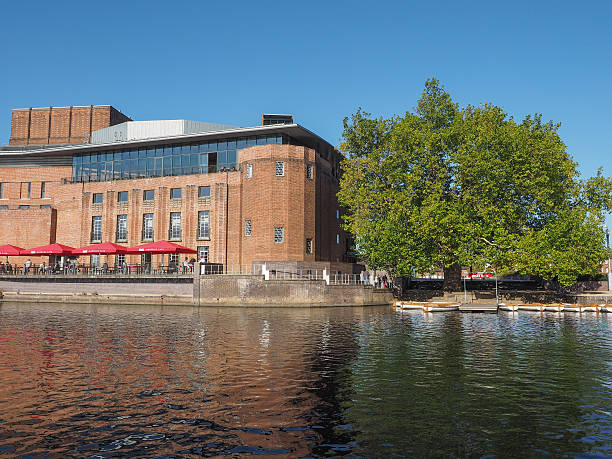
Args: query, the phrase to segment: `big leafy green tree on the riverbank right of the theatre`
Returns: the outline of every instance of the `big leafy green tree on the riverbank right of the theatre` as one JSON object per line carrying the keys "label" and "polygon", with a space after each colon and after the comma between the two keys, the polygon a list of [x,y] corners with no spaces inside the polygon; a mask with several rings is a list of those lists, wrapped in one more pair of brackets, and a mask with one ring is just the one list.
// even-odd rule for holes
{"label": "big leafy green tree on the riverbank right of the theatre", "polygon": [[462,265],[563,285],[596,274],[612,180],[581,180],[558,129],[490,104],[461,108],[435,79],[403,117],[358,110],[344,120],[338,194],[356,249],[394,275],[442,267],[447,290],[460,288]]}

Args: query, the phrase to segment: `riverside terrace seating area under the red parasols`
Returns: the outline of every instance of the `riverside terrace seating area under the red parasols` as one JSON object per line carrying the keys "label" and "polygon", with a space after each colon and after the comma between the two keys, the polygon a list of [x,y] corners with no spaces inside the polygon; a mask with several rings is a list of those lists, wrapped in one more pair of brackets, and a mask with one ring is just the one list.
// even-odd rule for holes
{"label": "riverside terrace seating area under the red parasols", "polygon": [[[109,255],[162,255],[161,263],[109,263]],[[192,275],[196,259],[171,260],[170,255],[193,255],[197,251],[169,241],[157,241],[135,247],[103,242],[81,248],[63,244],[24,249],[11,244],[0,245],[0,276],[134,276],[134,275]],[[98,264],[82,263],[80,257],[100,256]],[[168,258],[165,259],[165,255]],[[105,256],[105,258],[102,258]],[[31,257],[25,262],[11,262],[11,257]],[[178,258],[178,257],[177,257]],[[116,260],[117,258],[115,258]],[[125,257],[124,257],[125,259]]]}

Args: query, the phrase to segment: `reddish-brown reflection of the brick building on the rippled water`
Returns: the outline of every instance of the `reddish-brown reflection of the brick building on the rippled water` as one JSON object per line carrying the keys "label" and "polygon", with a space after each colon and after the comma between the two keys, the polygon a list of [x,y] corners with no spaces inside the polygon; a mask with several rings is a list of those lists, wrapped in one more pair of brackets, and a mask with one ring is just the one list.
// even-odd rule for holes
{"label": "reddish-brown reflection of the brick building on the rippled water", "polygon": [[332,426],[360,309],[5,303],[0,313],[8,451],[306,456],[350,440]]}

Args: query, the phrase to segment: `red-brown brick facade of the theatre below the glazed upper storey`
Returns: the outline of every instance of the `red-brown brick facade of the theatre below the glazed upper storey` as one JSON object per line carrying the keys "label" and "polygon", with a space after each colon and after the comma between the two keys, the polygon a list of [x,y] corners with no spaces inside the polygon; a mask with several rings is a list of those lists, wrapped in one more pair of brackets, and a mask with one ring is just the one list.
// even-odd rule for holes
{"label": "red-brown brick facade of the theatre below the glazed upper storey", "polygon": [[[77,111],[75,107],[73,123],[80,116]],[[22,113],[19,111],[19,116]],[[44,116],[49,113],[53,138],[73,138],[73,131],[68,135],[62,128],[65,125],[60,115],[36,112],[36,116],[44,124]],[[17,130],[19,126],[13,123],[16,139],[23,135]],[[44,129],[30,129],[30,134],[33,132],[39,136],[36,138],[46,135]],[[84,131],[74,132],[82,135]],[[276,174],[277,162],[284,165],[283,175]],[[143,214],[154,214],[154,240],[167,240],[170,213],[180,212],[182,235],[177,242],[193,249],[208,246],[213,263],[250,266],[254,261],[345,261],[347,237],[337,218],[337,164],[313,149],[296,145],[242,149],[238,163],[238,170],[231,172],[70,183],[66,181],[72,174],[70,166],[2,168],[0,161],[0,206],[8,206],[8,210],[0,207],[0,244],[25,248],[50,242],[89,245],[94,216],[102,217],[102,240],[115,242],[117,216],[125,214],[127,240],[118,242],[134,246],[146,242],[142,238]],[[246,177],[247,164],[251,165],[250,178]],[[312,178],[308,177],[308,166],[312,167]],[[210,187],[209,198],[198,197],[200,186]],[[172,188],[181,188],[181,199],[171,199]],[[145,190],[154,190],[154,200],[143,200]],[[120,191],[128,192],[127,202],[118,202]],[[102,204],[93,203],[94,193],[102,193]],[[29,209],[19,208],[25,205]],[[41,205],[50,208],[41,209]],[[205,210],[210,212],[210,237],[198,239],[198,212]],[[247,220],[251,222],[250,236],[245,234]],[[284,230],[282,242],[274,241],[275,227]],[[312,241],[312,253],[306,251],[307,239]],[[154,256],[153,263],[159,263],[160,258]],[[128,256],[130,263],[139,261],[137,255]]]}

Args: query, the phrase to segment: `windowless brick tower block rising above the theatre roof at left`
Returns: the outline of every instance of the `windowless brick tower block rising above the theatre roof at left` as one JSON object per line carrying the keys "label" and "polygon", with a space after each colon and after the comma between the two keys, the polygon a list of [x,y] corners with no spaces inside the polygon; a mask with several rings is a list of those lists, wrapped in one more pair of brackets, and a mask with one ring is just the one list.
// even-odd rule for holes
{"label": "windowless brick tower block rising above the theatre roof at left", "polygon": [[11,145],[87,142],[90,134],[130,118],[109,105],[13,110]]}

